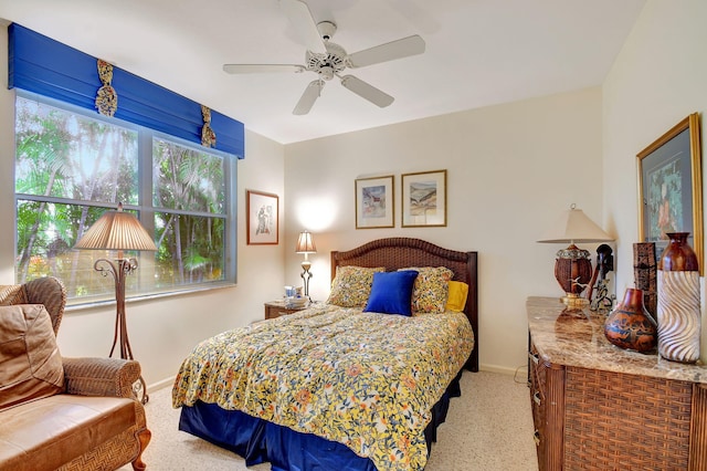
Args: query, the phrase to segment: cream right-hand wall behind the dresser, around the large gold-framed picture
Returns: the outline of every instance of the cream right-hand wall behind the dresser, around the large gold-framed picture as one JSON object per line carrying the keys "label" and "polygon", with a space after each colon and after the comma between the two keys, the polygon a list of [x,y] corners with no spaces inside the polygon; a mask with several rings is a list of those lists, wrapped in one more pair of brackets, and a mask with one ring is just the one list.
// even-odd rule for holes
{"label": "cream right-hand wall behind the dresser, around the large gold-framed picture", "polygon": [[[648,1],[604,82],[604,227],[619,236],[620,292],[633,286],[632,244],[639,241],[636,154],[698,112],[703,123],[703,182],[707,181],[705,24],[704,0]],[[704,300],[703,295],[703,305]],[[703,360],[707,359],[706,339],[704,332]]]}

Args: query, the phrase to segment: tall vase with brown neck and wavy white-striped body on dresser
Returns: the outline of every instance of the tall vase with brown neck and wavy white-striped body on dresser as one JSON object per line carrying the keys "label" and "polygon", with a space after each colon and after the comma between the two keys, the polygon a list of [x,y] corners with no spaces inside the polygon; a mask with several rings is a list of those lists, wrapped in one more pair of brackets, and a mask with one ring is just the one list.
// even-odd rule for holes
{"label": "tall vase with brown neck and wavy white-striped body on dresser", "polygon": [[671,232],[658,260],[658,353],[665,359],[699,359],[699,265],[689,232]]}

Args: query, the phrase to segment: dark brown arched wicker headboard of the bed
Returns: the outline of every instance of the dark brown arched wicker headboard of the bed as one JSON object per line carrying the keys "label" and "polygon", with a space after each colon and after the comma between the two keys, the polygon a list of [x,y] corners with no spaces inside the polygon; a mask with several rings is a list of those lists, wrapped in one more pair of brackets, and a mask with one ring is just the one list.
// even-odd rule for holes
{"label": "dark brown arched wicker headboard of the bed", "polygon": [[478,371],[478,284],[477,252],[458,252],[420,239],[378,239],[346,252],[331,252],[331,280],[337,266],[386,266],[388,271],[405,266],[446,266],[454,280],[468,284],[464,313],[474,328],[474,350],[465,367]]}

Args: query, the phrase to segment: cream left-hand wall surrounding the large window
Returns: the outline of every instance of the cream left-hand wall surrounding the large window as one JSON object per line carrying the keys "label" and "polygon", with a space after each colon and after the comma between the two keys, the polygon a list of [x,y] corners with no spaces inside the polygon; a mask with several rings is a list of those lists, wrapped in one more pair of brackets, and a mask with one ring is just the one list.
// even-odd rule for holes
{"label": "cream left-hand wall surrounding the large window", "polygon": [[[8,43],[0,34],[0,76],[7,77]],[[3,78],[4,80],[4,78]],[[3,82],[7,83],[7,82]],[[118,92],[119,93],[119,92]],[[0,87],[0,284],[14,282],[14,92]],[[246,132],[244,160],[239,161],[238,275],[235,287],[151,301],[128,302],[127,322],[133,354],[150,385],[172,378],[187,353],[200,341],[228,328],[262,320],[263,302],[281,295],[283,244],[245,244],[245,190],[278,193],[284,201],[284,147]],[[138,269],[139,270],[139,269]],[[128,293],[129,294],[129,293]],[[64,356],[108,355],[115,306],[67,310],[59,332]]]}

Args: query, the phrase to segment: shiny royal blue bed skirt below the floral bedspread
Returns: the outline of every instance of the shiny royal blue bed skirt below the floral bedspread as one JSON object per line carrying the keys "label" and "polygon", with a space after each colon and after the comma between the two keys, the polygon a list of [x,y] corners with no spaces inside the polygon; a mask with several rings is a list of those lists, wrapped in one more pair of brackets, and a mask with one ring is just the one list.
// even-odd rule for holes
{"label": "shiny royal blue bed skirt below the floral bedspread", "polygon": [[[460,371],[432,408],[432,421],[424,431],[428,454],[436,441],[437,427],[446,419],[450,399],[462,395],[461,376]],[[249,467],[270,462],[274,471],[377,471],[368,458],[341,443],[213,404],[199,401],[193,407],[182,407],[179,430],[235,452]]]}

